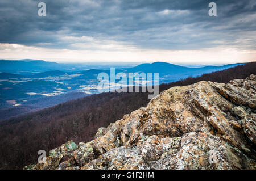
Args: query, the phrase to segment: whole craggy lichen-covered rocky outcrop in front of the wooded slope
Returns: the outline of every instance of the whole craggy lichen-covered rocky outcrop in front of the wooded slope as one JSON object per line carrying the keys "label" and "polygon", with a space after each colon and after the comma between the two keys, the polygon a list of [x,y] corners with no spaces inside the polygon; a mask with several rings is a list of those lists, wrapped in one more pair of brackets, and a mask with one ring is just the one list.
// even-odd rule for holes
{"label": "whole craggy lichen-covered rocky outcrop in front of the wooded slope", "polygon": [[30,169],[254,169],[256,76],[172,87]]}

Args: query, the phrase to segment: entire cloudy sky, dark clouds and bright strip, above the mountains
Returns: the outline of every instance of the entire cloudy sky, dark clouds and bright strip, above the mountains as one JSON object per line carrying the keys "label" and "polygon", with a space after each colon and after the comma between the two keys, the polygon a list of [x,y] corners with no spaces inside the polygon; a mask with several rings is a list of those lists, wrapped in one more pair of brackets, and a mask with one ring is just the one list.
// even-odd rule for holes
{"label": "entire cloudy sky, dark clouds and bright strip, above the mountains", "polygon": [[[46,16],[38,3],[46,3]],[[210,2],[217,16],[209,16]],[[0,58],[220,64],[256,60],[255,0],[1,0]]]}

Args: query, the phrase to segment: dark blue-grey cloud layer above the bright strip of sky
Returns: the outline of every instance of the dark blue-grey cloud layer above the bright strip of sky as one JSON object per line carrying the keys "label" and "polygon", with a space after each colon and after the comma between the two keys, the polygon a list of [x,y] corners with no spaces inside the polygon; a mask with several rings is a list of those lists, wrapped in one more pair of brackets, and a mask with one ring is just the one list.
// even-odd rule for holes
{"label": "dark blue-grey cloud layer above the bright strip of sky", "polygon": [[[47,5],[45,17],[37,14],[41,1]],[[212,1],[203,0],[41,1],[1,0],[1,43],[69,49],[77,49],[73,43],[101,40],[151,49],[256,47],[254,0],[212,0],[217,17],[208,15]],[[68,36],[93,40],[74,42]]]}

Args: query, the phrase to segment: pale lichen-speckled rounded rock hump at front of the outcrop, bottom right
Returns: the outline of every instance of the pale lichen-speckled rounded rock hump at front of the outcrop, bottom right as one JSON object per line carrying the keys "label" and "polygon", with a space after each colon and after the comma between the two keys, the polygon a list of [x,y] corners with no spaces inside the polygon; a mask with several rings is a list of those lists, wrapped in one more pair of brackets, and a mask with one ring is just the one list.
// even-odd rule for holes
{"label": "pale lichen-speckled rounded rock hump at front of the outcrop, bottom right", "polygon": [[151,169],[250,169],[250,160],[231,148],[220,137],[190,132],[175,153],[164,154]]}

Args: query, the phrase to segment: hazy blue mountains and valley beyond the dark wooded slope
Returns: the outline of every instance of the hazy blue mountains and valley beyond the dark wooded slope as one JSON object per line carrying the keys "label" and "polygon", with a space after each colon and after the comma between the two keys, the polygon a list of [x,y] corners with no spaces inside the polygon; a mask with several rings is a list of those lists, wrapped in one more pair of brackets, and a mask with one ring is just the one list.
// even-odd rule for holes
{"label": "hazy blue mountains and valley beyond the dark wooded slope", "polygon": [[[166,62],[137,66],[97,65],[58,64],[43,60],[0,60],[0,71],[2,71],[0,73],[0,111],[2,115],[8,112],[11,117],[22,112],[53,106],[72,98],[97,94],[99,92],[97,85],[100,82],[97,75],[102,72],[110,75],[112,67],[115,68],[116,74],[120,72],[159,73],[159,83],[170,83],[243,64],[200,68],[188,68]],[[97,67],[101,69],[95,69]],[[133,85],[144,86],[145,84],[138,84],[134,80]],[[127,86],[131,86],[129,82]],[[8,116],[2,116],[0,120],[7,118]]]}

